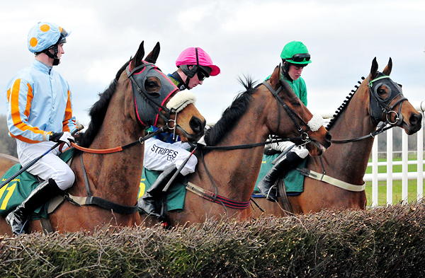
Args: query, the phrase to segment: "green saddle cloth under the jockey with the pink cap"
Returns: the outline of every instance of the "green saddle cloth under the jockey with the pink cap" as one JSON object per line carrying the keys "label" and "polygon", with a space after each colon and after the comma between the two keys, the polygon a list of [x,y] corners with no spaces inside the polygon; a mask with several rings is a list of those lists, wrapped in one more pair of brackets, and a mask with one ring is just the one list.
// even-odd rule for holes
{"label": "green saddle cloth under the jockey with the pink cap", "polygon": [[[162,171],[147,170],[147,168],[143,168],[137,199],[140,199],[145,194],[146,190],[149,190],[161,173]],[[179,182],[173,183],[166,195],[167,210],[169,212],[173,210],[183,210],[185,197],[186,185]]]}

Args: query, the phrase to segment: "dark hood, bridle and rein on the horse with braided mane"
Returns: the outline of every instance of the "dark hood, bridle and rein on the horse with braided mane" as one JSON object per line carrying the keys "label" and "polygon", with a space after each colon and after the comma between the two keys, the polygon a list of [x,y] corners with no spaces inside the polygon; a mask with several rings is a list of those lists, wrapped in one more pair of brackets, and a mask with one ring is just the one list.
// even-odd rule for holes
{"label": "dark hood, bridle and rein on the horse with braided mane", "polygon": [[[387,80],[385,80],[387,79]],[[380,82],[377,82],[380,81]],[[390,95],[383,99],[378,94],[378,88],[385,85],[387,88],[390,88]],[[353,139],[344,139],[344,140],[331,140],[335,144],[344,144],[353,141],[360,141],[366,138],[375,137],[382,132],[385,132],[387,129],[396,127],[403,121],[402,115],[402,104],[407,98],[404,97],[402,89],[399,84],[395,83],[390,79],[390,76],[382,75],[368,82],[369,95],[370,95],[370,117],[372,118],[373,123],[378,124],[385,115],[385,122],[380,125],[378,129],[370,134],[363,135],[361,137],[356,137]],[[394,103],[392,101],[399,97]],[[391,104],[392,103],[392,104]],[[398,112],[394,108],[399,105]],[[391,121],[391,115],[395,115],[395,120]]]}

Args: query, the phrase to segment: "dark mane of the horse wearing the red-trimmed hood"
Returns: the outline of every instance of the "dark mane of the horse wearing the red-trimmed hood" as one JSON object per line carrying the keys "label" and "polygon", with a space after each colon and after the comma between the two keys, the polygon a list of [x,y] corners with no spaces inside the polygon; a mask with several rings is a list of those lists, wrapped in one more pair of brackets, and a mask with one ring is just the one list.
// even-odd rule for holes
{"label": "dark mane of the horse wearing the red-trimmed hood", "polygon": [[87,128],[86,132],[82,133],[79,136],[78,143],[80,146],[89,147],[91,142],[93,142],[94,138],[99,132],[99,129],[101,128],[101,125],[103,124],[103,119],[105,118],[106,111],[108,110],[109,102],[111,101],[111,98],[113,94],[115,93],[115,89],[118,83],[118,79],[120,78],[121,74],[125,70],[125,68],[130,63],[131,59],[126,62],[121,68],[118,70],[117,74],[115,75],[115,79],[111,82],[109,87],[103,92],[98,93],[99,100],[94,103],[93,106],[91,106],[89,110],[89,115],[91,117],[91,121],[89,123],[89,127]]}

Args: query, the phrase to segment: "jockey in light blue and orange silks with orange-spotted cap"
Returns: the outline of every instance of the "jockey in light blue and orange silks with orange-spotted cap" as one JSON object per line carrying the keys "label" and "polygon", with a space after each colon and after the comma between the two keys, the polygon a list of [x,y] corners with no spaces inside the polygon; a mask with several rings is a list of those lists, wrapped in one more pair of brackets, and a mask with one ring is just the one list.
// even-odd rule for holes
{"label": "jockey in light blue and orange silks with orange-spotted cap", "polygon": [[[71,132],[77,126],[72,116],[69,85],[52,69],[60,64],[67,36],[58,25],[37,23],[28,33],[28,50],[35,54],[34,62],[8,83],[8,131],[16,139],[22,165],[44,154],[55,142],[70,145],[74,141]],[[58,149],[53,149],[28,168],[29,173],[43,181],[6,216],[13,233],[24,233],[30,214],[74,183],[74,173],[59,154]]]}

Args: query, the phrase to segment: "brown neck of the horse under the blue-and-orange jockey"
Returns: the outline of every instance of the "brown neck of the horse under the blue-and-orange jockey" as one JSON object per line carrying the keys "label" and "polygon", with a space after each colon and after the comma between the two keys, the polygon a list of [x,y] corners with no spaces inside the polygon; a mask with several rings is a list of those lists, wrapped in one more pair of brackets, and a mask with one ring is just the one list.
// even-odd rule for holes
{"label": "brown neck of the horse under the blue-and-orange jockey", "polygon": [[[135,120],[132,93],[125,90],[131,87],[117,86],[90,148],[111,149],[143,136],[143,129]],[[84,166],[94,195],[123,205],[135,204],[143,167],[143,146],[137,144],[113,154],[84,154]]]}

